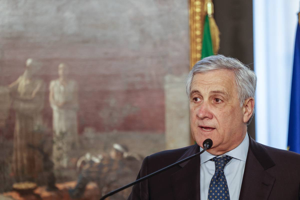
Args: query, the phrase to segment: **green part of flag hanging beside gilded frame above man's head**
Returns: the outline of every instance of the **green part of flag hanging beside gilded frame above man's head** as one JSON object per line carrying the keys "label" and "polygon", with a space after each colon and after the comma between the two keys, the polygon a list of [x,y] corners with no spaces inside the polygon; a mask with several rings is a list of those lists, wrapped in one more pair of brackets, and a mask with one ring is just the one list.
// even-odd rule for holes
{"label": "green part of flag hanging beside gilded frame above man's head", "polygon": [[201,59],[207,56],[214,55],[212,47],[211,34],[209,28],[208,15],[205,16],[204,28],[203,28],[203,40],[202,40],[202,54]]}

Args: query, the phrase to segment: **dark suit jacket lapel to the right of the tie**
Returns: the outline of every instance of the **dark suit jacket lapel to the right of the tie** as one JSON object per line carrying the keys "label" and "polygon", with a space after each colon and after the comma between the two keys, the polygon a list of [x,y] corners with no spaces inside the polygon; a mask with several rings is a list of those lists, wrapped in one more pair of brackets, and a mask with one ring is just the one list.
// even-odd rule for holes
{"label": "dark suit jacket lapel to the right of the tie", "polygon": [[249,150],[239,199],[267,200],[275,178],[265,170],[274,165],[273,160],[265,152],[262,145],[249,136]]}

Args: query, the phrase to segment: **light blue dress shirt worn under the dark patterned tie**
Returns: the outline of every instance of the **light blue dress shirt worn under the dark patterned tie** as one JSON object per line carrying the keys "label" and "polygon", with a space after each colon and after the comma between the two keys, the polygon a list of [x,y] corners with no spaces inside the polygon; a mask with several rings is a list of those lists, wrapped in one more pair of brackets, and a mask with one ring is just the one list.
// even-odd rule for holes
{"label": "light blue dress shirt worn under the dark patterned tie", "polygon": [[[232,160],[225,166],[224,174],[226,176],[230,200],[238,200],[241,191],[241,184],[244,175],[246,158],[249,148],[249,136],[246,133],[244,140],[235,149],[218,157],[227,155],[231,156]],[[200,151],[203,149],[200,147]],[[205,151],[200,155],[200,192],[201,200],[206,200],[208,196],[208,187],[211,177],[215,172],[215,165],[211,158],[216,157]]]}

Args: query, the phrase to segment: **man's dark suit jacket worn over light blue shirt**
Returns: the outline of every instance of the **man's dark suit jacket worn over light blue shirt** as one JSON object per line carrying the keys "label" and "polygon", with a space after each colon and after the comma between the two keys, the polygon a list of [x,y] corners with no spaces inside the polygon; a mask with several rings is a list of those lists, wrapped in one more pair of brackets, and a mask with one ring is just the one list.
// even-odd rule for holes
{"label": "man's dark suit jacket worn over light blue shirt", "polygon": [[[300,199],[300,154],[259,144],[250,136],[249,140],[239,199]],[[137,178],[146,176],[197,152],[199,152],[199,146],[192,145],[148,156],[144,159]],[[199,200],[199,169],[199,157],[186,161],[179,166],[174,166],[134,185],[128,200]]]}

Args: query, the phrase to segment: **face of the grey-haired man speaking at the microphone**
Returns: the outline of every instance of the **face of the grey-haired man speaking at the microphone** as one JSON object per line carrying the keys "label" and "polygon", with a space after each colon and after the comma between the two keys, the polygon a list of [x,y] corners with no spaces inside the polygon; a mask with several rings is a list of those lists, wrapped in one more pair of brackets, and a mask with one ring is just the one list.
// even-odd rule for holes
{"label": "face of the grey-haired man speaking at the microphone", "polygon": [[208,152],[221,155],[237,147],[247,131],[244,111],[235,88],[235,75],[214,70],[194,75],[190,96],[190,126],[199,146],[210,138]]}

